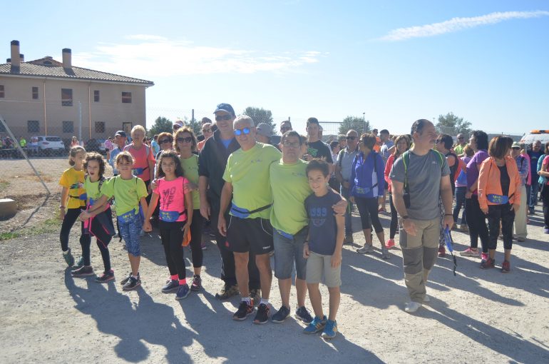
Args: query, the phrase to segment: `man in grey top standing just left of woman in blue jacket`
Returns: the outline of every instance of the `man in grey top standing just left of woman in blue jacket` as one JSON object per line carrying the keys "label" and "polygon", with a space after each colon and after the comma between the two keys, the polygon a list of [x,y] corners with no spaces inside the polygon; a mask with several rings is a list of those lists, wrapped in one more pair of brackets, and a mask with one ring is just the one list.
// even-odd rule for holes
{"label": "man in grey top standing just left of woman in blue jacket", "polygon": [[[342,196],[349,201],[349,186],[354,157],[359,153],[359,133],[351,129],[347,131],[347,147],[339,151],[336,162],[336,178],[342,185]],[[345,243],[353,242],[353,229],[351,224],[351,211],[353,205],[349,201],[349,207],[345,213]]]}

